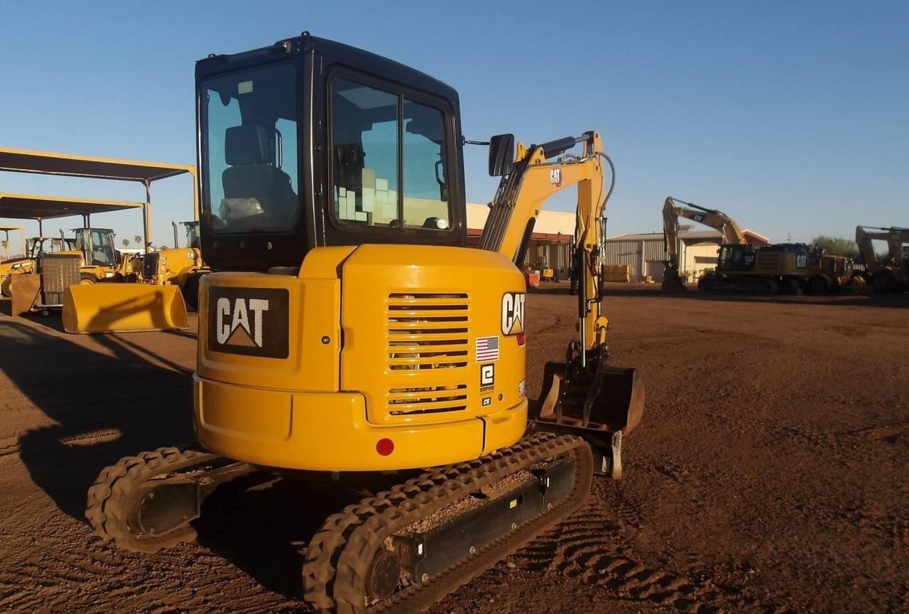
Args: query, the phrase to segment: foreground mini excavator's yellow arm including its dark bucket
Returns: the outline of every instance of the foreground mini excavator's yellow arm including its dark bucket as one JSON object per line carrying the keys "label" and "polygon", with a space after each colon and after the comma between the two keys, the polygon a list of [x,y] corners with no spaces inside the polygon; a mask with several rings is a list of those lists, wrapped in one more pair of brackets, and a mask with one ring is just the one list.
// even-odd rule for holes
{"label": "foreground mini excavator's yellow arm including its dark bucket", "polygon": [[[504,143],[511,146],[508,139]],[[580,156],[560,156],[577,144],[582,144]],[[494,160],[502,158],[501,152],[491,148],[491,171]],[[612,175],[608,189],[604,164],[610,166]],[[644,384],[633,368],[606,364],[609,322],[602,312],[603,214],[613,191],[614,166],[595,132],[529,148],[518,144],[514,166],[505,166],[478,247],[497,251],[515,265],[524,258],[545,200],[568,186],[577,186],[572,279],[578,299],[578,338],[569,343],[564,362],[546,364],[543,391],[538,407],[531,410],[529,428],[581,432],[594,451],[613,449],[604,458],[620,458],[621,433],[630,432],[644,410]],[[620,465],[602,470],[614,478],[621,475]]]}

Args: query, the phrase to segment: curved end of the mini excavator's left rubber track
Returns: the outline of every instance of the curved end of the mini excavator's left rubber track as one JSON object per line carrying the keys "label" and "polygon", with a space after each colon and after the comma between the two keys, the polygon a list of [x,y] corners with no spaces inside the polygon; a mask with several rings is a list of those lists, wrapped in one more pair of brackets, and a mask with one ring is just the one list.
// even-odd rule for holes
{"label": "curved end of the mini excavator's left rubber track", "polygon": [[132,552],[157,552],[192,541],[195,529],[188,523],[164,535],[143,536],[129,528],[128,518],[137,503],[135,494],[145,482],[214,458],[218,456],[178,448],[157,448],[154,452],[121,458],[114,465],[102,469],[95,484],[88,489],[85,518],[95,529],[95,535],[105,541],[113,539],[117,546]]}

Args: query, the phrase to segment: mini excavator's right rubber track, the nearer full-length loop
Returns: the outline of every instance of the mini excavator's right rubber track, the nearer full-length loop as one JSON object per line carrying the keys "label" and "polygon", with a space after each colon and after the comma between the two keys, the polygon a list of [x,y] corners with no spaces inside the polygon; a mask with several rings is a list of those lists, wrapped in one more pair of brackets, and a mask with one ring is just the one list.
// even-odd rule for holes
{"label": "mini excavator's right rubber track, the nearer full-length loop", "polygon": [[[385,548],[385,539],[498,479],[567,453],[574,454],[574,488],[552,509],[476,549],[426,582],[415,583],[391,599],[366,607],[365,577],[375,553]],[[303,566],[305,599],[319,612],[336,614],[415,612],[428,608],[580,508],[590,492],[593,464],[584,439],[537,433],[512,448],[433,469],[365,498],[328,517],[310,541]]]}

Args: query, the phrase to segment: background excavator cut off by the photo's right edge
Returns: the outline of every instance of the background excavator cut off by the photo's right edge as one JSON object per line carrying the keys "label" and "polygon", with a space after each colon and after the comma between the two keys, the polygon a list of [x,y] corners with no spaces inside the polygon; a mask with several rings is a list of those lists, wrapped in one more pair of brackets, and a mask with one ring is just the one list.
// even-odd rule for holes
{"label": "background excavator cut off by the photo's right edge", "polygon": [[[887,242],[887,255],[879,260],[874,241]],[[902,292],[909,287],[909,228],[856,226],[855,243],[865,267],[865,281],[874,292]]]}

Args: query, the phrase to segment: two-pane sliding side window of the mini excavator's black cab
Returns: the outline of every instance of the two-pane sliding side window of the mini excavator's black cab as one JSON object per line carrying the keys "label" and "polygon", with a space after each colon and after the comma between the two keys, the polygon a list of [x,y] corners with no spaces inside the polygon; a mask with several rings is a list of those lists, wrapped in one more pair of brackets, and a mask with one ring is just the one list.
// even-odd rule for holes
{"label": "two-pane sliding side window of the mini excavator's black cab", "polygon": [[332,81],[331,114],[338,222],[449,227],[445,117],[439,109],[339,77]]}

